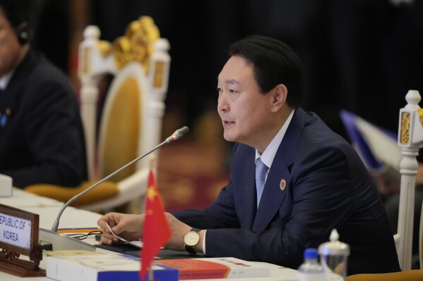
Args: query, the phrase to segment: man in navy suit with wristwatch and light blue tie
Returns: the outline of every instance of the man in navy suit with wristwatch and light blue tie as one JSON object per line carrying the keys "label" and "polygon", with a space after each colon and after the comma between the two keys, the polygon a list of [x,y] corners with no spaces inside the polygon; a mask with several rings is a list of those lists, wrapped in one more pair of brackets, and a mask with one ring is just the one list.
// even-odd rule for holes
{"label": "man in navy suit with wristwatch and light blue tie", "polygon": [[[299,59],[286,44],[261,36],[232,44],[218,77],[224,137],[236,142],[230,181],[208,208],[167,214],[169,249],[297,268],[304,249],[328,241],[335,228],[351,248],[349,274],[400,270],[369,173],[345,139],[299,107],[302,85]],[[144,218],[103,216],[101,242],[116,241],[106,222],[136,239]]]}

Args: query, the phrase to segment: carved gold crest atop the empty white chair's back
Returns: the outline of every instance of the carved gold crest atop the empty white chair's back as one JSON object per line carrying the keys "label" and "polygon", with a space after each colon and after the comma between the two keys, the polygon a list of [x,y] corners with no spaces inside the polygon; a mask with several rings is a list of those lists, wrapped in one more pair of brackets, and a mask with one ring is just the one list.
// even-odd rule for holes
{"label": "carved gold crest atop the empty white chair's back", "polygon": [[141,16],[126,28],[125,35],[114,40],[112,51],[117,69],[126,63],[138,61],[148,73],[150,57],[154,51],[154,44],[160,38],[160,32],[153,18]]}

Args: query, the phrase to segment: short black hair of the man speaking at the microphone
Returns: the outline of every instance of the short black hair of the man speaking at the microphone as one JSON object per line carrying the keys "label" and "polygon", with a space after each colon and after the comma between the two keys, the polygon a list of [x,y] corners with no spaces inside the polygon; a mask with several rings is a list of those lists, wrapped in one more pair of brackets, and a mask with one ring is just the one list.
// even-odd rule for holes
{"label": "short black hair of the man speaking at the microphone", "polygon": [[290,46],[278,39],[251,35],[232,44],[229,54],[245,58],[251,63],[262,93],[283,84],[288,89],[287,104],[292,107],[301,104],[304,71]]}

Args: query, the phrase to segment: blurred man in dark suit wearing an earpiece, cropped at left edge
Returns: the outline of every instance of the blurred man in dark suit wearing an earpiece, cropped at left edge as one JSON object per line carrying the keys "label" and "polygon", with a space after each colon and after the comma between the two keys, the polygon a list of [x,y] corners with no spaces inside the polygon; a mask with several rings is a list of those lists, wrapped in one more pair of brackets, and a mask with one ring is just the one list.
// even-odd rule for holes
{"label": "blurred man in dark suit wearing an earpiece, cropped at left edge", "polygon": [[30,47],[34,1],[0,0],[0,173],[13,186],[87,180],[85,141],[68,78]]}

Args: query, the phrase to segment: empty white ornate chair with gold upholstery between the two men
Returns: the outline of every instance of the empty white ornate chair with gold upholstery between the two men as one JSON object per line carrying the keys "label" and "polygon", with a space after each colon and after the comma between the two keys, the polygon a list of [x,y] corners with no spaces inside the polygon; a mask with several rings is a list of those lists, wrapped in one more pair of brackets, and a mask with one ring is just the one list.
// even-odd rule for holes
{"label": "empty white ornate chair with gold upholstery between the two men", "polygon": [[[130,23],[125,35],[112,44],[100,40],[98,27],[86,27],[79,46],[78,76],[90,180],[76,188],[33,185],[26,190],[68,201],[159,144],[169,76],[168,49],[169,42],[160,38],[148,16]],[[97,130],[97,83],[109,74],[114,78]],[[149,169],[148,159],[142,159],[73,201],[73,206],[99,211],[133,202],[126,211],[140,212]]]}

